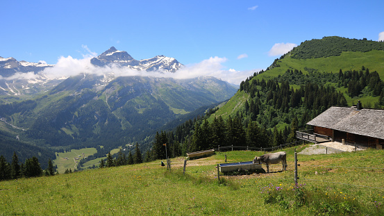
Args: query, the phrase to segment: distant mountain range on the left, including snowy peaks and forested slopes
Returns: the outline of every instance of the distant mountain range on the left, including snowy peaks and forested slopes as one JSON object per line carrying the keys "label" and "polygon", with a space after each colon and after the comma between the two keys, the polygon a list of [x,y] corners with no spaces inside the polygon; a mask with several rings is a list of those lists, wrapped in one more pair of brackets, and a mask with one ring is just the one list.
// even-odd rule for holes
{"label": "distant mountain range on the left, including snowy peaks and forested slopes", "polygon": [[[54,151],[140,142],[167,122],[237,91],[214,77],[151,76],[172,76],[183,67],[166,56],[135,60],[111,47],[90,63],[107,73],[49,76],[47,69],[55,65],[0,58],[0,137],[12,142],[0,142],[0,155],[9,158],[16,151],[23,159],[24,151],[33,151],[47,160]],[[115,76],[115,68],[149,76]]]}

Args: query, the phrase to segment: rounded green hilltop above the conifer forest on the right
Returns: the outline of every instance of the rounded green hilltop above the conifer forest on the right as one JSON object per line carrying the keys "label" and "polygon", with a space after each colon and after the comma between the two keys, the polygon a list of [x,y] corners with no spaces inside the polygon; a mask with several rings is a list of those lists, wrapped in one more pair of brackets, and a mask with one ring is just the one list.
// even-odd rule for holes
{"label": "rounded green hilltop above the conifer forest on the right", "polygon": [[302,42],[298,47],[274,60],[268,73],[258,78],[276,77],[287,69],[308,72],[337,73],[367,67],[384,78],[384,42],[325,37],[321,40]]}

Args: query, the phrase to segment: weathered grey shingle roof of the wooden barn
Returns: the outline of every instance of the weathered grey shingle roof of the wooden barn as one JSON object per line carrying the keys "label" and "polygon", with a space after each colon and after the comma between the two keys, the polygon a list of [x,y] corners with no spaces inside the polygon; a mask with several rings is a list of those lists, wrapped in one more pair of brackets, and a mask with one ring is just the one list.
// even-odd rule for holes
{"label": "weathered grey shingle roof of the wooden barn", "polygon": [[307,124],[384,140],[384,110],[333,106]]}

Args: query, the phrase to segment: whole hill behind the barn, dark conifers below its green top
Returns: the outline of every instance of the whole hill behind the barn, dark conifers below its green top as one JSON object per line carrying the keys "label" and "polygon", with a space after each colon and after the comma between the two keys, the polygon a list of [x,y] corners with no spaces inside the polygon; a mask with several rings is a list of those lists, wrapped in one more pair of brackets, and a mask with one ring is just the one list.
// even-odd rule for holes
{"label": "whole hill behind the barn, dark conifers below its green top", "polygon": [[[351,106],[360,100],[365,108],[383,108],[382,63],[378,66],[367,61],[367,65],[381,68],[372,71],[365,65],[356,65],[354,58],[345,63],[346,58],[342,56],[343,51],[353,51],[360,57],[367,53],[368,56],[374,55],[374,59],[384,60],[383,46],[383,42],[339,37],[303,42],[275,60],[267,71],[255,73],[243,81],[237,94],[222,108],[210,110],[204,117],[189,120],[173,131],[159,133],[152,151],[164,142],[169,143],[169,151],[174,153],[172,156],[217,148],[218,145],[277,146],[293,142],[294,131],[306,129],[310,119],[331,106]],[[368,53],[372,51],[375,53]],[[340,65],[349,64],[356,69],[343,71],[338,68],[324,72],[320,67],[303,67],[309,64],[305,61],[310,61],[313,66],[329,56],[333,56],[330,60],[333,67],[337,67],[337,56],[342,56]],[[292,58],[303,65],[298,68],[295,68],[297,62],[290,65]],[[284,65],[285,72],[281,72],[279,64]],[[161,142],[158,141],[160,137]],[[151,155],[153,158],[164,157],[156,152]]]}

